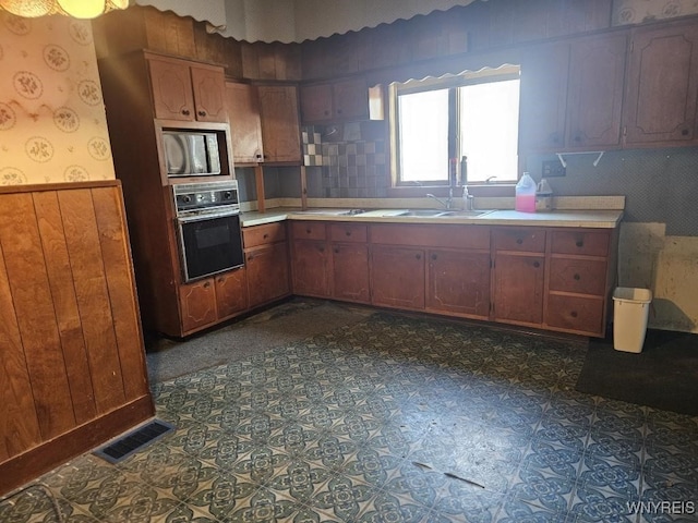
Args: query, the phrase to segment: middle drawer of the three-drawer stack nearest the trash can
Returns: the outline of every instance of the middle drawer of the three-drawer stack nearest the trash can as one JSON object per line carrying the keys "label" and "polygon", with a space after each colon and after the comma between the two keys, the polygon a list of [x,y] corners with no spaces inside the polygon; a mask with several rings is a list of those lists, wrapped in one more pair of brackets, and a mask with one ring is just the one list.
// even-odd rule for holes
{"label": "middle drawer of the three-drawer stack nearest the trash can", "polygon": [[606,263],[595,259],[552,258],[550,290],[602,296],[606,287]]}

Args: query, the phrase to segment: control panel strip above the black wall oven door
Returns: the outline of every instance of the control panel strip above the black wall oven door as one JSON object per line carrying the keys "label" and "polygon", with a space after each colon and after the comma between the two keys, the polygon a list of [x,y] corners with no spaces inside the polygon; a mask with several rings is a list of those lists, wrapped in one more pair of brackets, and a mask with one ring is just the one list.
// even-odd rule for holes
{"label": "control panel strip above the black wall oven door", "polygon": [[240,210],[238,181],[178,183],[172,185],[177,215],[228,208]]}

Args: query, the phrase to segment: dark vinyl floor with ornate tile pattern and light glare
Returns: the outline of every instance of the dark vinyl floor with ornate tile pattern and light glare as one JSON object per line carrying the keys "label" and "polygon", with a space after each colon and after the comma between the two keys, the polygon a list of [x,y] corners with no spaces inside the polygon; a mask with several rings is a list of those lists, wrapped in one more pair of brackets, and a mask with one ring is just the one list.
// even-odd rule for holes
{"label": "dark vinyl floor with ornate tile pattern and light glare", "polygon": [[585,350],[375,313],[155,384],[174,433],[73,460],[0,521],[698,521],[698,418],[575,392]]}

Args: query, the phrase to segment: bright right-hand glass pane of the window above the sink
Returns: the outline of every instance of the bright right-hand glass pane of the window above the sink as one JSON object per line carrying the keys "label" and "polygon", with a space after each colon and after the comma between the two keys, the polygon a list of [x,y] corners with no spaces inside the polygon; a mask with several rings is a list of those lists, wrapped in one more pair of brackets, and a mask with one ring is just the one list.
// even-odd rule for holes
{"label": "bright right-hand glass pane of the window above the sink", "polygon": [[516,181],[519,81],[460,87],[460,154],[468,157],[468,181]]}

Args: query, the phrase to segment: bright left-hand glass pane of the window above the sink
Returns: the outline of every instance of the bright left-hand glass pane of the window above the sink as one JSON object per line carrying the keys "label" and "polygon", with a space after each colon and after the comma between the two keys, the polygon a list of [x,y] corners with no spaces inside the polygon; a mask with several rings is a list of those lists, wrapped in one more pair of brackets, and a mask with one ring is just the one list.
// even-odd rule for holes
{"label": "bright left-hand glass pane of the window above the sink", "polygon": [[448,180],[448,90],[428,90],[398,98],[400,179]]}

